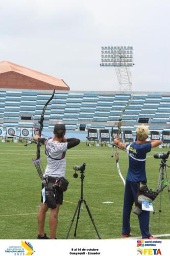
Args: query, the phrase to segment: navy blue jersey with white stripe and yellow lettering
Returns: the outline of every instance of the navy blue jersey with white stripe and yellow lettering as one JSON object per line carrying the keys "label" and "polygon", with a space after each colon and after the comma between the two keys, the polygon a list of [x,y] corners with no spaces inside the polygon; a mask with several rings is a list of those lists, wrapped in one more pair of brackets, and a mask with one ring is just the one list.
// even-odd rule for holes
{"label": "navy blue jersey with white stripe and yellow lettering", "polygon": [[136,142],[126,146],[129,155],[129,168],[126,179],[133,182],[147,182],[145,160],[151,151],[151,143],[138,144]]}

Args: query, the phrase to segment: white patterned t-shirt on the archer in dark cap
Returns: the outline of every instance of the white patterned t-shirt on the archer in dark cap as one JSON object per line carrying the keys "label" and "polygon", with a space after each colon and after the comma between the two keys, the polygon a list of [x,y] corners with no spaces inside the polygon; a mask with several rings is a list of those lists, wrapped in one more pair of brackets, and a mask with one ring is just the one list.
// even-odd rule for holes
{"label": "white patterned t-shirt on the archer in dark cap", "polygon": [[[45,144],[47,155],[50,155],[52,158],[61,159],[65,156],[67,144],[67,142],[61,143],[59,141],[53,141],[53,139],[48,140]],[[47,156],[47,166],[45,168],[44,176],[65,177],[65,158],[61,160],[55,160],[52,158]]]}

